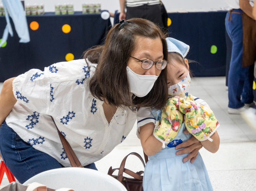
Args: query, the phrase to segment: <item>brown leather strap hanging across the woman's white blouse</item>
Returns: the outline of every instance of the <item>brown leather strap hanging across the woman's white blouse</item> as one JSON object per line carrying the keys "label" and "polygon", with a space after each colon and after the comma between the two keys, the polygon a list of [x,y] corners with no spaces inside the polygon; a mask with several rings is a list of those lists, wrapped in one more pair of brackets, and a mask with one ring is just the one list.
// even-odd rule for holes
{"label": "brown leather strap hanging across the woman's white blouse", "polygon": [[78,157],[76,156],[76,154],[74,153],[72,147],[70,146],[70,144],[68,143],[67,139],[63,136],[63,134],[61,134],[61,132],[59,131],[53,117],[51,117],[51,119],[53,120],[54,125],[56,126],[56,129],[58,131],[59,134],[59,138],[61,140],[61,144],[64,148],[64,151],[66,152],[67,156],[68,156],[68,160],[71,164],[71,167],[80,167],[83,168],[83,166],[81,165]]}

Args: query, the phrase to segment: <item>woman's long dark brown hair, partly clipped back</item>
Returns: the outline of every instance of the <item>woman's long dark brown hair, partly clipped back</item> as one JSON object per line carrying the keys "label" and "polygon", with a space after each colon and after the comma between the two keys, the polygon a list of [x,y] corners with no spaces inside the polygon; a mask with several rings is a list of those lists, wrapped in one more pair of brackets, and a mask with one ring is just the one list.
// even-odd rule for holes
{"label": "woman's long dark brown hair, partly clipped back", "polygon": [[85,59],[87,58],[91,63],[97,63],[89,84],[91,94],[112,106],[161,109],[168,96],[167,67],[162,70],[153,88],[144,97],[132,96],[130,93],[126,67],[134,50],[136,37],[161,39],[164,59],[167,60],[166,35],[156,24],[146,19],[134,18],[127,22],[129,24],[121,29],[119,29],[120,24],[114,25],[108,32],[104,45],[85,52]]}

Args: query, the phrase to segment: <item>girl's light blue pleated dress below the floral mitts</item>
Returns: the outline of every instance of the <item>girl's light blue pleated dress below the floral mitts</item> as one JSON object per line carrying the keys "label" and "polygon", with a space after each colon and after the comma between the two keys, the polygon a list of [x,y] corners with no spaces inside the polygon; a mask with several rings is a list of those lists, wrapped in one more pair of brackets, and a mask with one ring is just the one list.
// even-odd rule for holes
{"label": "girl's light blue pleated dress below the floral mitts", "polygon": [[157,154],[149,157],[143,178],[144,191],[213,191],[203,159],[182,162],[188,154],[176,155],[175,146],[191,138],[182,123],[176,138]]}

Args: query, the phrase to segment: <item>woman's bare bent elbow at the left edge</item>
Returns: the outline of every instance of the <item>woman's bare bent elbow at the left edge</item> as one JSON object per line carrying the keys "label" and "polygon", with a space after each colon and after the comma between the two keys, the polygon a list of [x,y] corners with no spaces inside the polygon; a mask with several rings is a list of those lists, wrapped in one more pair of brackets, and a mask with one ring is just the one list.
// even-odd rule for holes
{"label": "woman's bare bent elbow at the left edge", "polygon": [[5,121],[5,118],[12,111],[17,99],[13,95],[12,82],[15,78],[7,79],[3,83],[2,91],[0,93],[0,125]]}

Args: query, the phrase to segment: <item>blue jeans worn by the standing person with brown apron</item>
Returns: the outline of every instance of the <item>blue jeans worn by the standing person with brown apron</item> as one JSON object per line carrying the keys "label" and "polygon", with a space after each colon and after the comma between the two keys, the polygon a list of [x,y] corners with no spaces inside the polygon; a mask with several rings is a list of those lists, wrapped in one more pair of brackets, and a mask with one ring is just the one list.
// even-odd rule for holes
{"label": "blue jeans worn by the standing person with brown apron", "polygon": [[[234,12],[243,13],[241,9]],[[253,102],[253,67],[242,68],[243,62],[243,22],[242,15],[231,13],[231,20],[228,21],[230,13],[226,15],[226,31],[232,45],[230,70],[228,73],[228,107],[240,108],[244,104]],[[242,96],[242,100],[241,100]]]}

